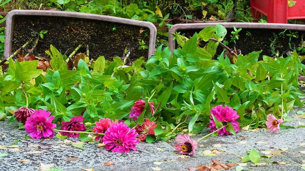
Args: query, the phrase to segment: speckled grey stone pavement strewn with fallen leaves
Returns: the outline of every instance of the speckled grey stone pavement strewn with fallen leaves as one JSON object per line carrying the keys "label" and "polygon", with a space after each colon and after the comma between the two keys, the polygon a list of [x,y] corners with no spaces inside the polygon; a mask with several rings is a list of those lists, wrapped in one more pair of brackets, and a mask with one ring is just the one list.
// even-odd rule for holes
{"label": "speckled grey stone pavement strewn with fallen leaves", "polygon": [[[302,108],[295,109],[303,110]],[[290,113],[289,117],[293,117],[293,121],[285,122],[285,125],[298,126],[298,122],[305,123],[305,119],[297,117],[298,114]],[[239,131],[238,138],[234,136],[213,137],[207,140],[199,142],[199,149],[195,151],[193,157],[187,157],[185,159],[179,158],[179,156],[173,153],[174,147],[173,140],[169,142],[158,141],[153,144],[140,143],[137,145],[138,151],[132,151],[127,154],[108,152],[103,147],[97,147],[96,144],[84,144],[87,149],[79,149],[73,147],[70,143],[58,143],[63,141],[58,138],[52,139],[24,139],[27,136],[24,130],[16,130],[18,126],[16,123],[7,123],[6,121],[0,122],[0,145],[19,145],[18,151],[10,151],[13,148],[0,148],[0,153],[9,153],[0,158],[0,171],[39,171],[41,163],[54,164],[53,168],[62,168],[64,171],[75,170],[81,171],[83,168],[94,168],[95,171],[102,170],[152,170],[160,168],[164,171],[183,171],[188,170],[188,167],[195,167],[198,165],[210,164],[211,160],[218,160],[221,158],[223,164],[225,163],[241,163],[241,158],[246,154],[247,150],[256,149],[257,151],[281,151],[279,148],[288,148],[282,155],[274,155],[268,161],[262,159],[260,162],[266,163],[263,166],[251,166],[251,162],[247,162],[247,166],[244,170],[250,171],[276,171],[276,170],[289,170],[300,171],[303,170],[299,164],[305,164],[302,161],[305,160],[305,154],[299,151],[305,151],[305,128],[285,129],[281,130],[278,134],[271,133],[270,131],[264,131],[260,129],[258,132]],[[12,127],[13,126],[13,127]],[[198,139],[207,134],[207,131],[202,131],[199,135],[193,135],[192,138]],[[14,142],[13,140],[20,140],[20,142]],[[68,140],[76,142],[78,138],[68,138]],[[246,144],[237,144],[240,141],[246,141]],[[268,142],[270,144],[256,144],[257,141]],[[38,146],[31,146],[35,145]],[[221,144],[221,147],[214,147],[215,144]],[[60,147],[61,145],[70,146]],[[53,148],[52,146],[59,146],[59,148]],[[217,149],[218,151],[224,151],[216,156],[207,156],[202,152],[205,150]],[[30,154],[31,151],[43,151],[37,154]],[[263,155],[262,153],[260,153]],[[65,161],[69,157],[79,158],[77,161]],[[30,162],[18,162],[18,160],[28,159]],[[115,165],[103,166],[104,162],[112,161]],[[171,160],[171,161],[170,161]],[[168,162],[169,161],[169,162]],[[274,161],[274,162],[273,162]],[[160,165],[156,165],[153,162],[163,162]],[[272,163],[273,162],[273,163]],[[285,162],[291,164],[290,166],[276,164],[275,162]],[[235,170],[231,168],[229,170]]]}

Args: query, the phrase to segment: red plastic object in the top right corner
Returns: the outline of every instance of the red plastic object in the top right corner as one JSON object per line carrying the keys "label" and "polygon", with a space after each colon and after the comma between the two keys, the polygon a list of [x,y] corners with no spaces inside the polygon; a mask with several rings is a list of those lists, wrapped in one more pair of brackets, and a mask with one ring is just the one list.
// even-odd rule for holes
{"label": "red plastic object in the top right corner", "polygon": [[288,7],[288,0],[251,0],[251,11],[255,18],[267,16],[268,23],[287,23],[288,19],[305,19],[305,1],[295,0],[296,5]]}

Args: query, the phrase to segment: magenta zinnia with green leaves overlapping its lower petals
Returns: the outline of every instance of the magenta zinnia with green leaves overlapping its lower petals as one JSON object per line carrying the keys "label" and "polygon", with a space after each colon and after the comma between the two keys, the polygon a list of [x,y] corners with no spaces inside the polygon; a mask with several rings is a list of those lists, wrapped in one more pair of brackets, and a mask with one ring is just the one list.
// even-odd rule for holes
{"label": "magenta zinnia with green leaves overlapping its lower petals", "polygon": [[[237,119],[239,118],[239,115],[231,107],[228,107],[227,105],[224,108],[222,107],[222,105],[212,107],[211,116],[210,116],[210,118],[211,118],[210,124],[207,125],[207,127],[211,128],[209,130],[210,132],[217,130],[212,115],[214,115],[214,117],[220,122],[226,122],[226,123],[230,122],[232,124],[235,132],[238,132],[239,123],[238,123]],[[222,128],[221,130],[217,131],[217,133],[218,133],[218,136],[231,134],[231,132],[227,131],[225,127]]]}

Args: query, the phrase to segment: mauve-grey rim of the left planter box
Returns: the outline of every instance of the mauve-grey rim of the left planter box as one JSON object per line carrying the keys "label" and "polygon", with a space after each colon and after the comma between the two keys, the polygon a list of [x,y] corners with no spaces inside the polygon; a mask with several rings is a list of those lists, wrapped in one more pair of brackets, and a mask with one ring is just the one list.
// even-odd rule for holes
{"label": "mauve-grey rim of the left planter box", "polygon": [[[65,12],[65,11],[43,11],[43,10],[13,10],[7,14],[6,18],[6,35],[5,35],[5,46],[4,46],[4,57],[8,58],[12,54],[12,41],[13,41],[13,30],[14,30],[14,21],[18,16],[47,16],[47,17],[70,17],[77,19],[88,19],[88,20],[99,20],[109,23],[119,23],[126,24],[131,26],[144,27],[149,29],[149,49],[148,57],[154,55],[155,53],[155,42],[156,42],[156,27],[145,21],[138,21],[132,19],[125,19],[113,16],[104,16],[97,14],[88,14],[81,12]],[[30,22],[30,21],[28,21]],[[78,26],[81,27],[81,26]],[[102,28],[95,28],[102,29]],[[30,31],[29,31],[30,33]],[[115,39],[115,37],[113,37]],[[25,43],[25,42],[24,42]],[[105,41],[105,43],[108,43]],[[138,44],[138,42],[137,42]],[[102,46],[102,45],[100,45]],[[115,46],[115,45],[113,45]],[[140,46],[140,45],[139,45]],[[102,48],[102,47],[101,47]],[[121,47],[123,50],[125,47]],[[104,55],[104,54],[100,54]]]}

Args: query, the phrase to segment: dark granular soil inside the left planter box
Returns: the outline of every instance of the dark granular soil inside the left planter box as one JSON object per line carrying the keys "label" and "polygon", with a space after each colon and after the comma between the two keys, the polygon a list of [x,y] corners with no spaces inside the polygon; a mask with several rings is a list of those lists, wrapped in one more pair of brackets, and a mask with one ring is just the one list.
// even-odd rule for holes
{"label": "dark granular soil inside the left planter box", "polygon": [[[116,30],[113,30],[116,28]],[[97,59],[104,56],[111,60],[113,56],[122,57],[125,47],[131,50],[129,59],[135,61],[148,57],[148,49],[138,50],[139,41],[144,40],[149,45],[149,30],[140,33],[141,27],[119,23],[110,23],[90,19],[50,16],[18,16],[14,24],[13,52],[33,37],[33,33],[48,30],[37,47],[36,56],[50,58],[45,51],[52,44],[62,54],[67,56],[82,44],[77,53],[86,52],[89,44],[89,57]],[[77,31],[78,30],[78,31]],[[35,31],[35,32],[34,32]],[[73,33],[77,31],[77,33]],[[36,34],[36,37],[38,35]],[[36,38],[35,37],[35,38]],[[31,48],[31,44],[27,49]]]}

